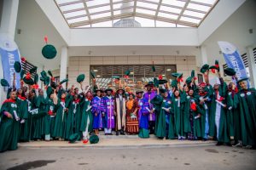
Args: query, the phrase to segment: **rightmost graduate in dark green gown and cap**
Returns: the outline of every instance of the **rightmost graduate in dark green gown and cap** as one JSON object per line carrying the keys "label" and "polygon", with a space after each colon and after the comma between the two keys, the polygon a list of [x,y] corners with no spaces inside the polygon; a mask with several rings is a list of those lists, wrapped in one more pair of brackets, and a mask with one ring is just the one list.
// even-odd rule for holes
{"label": "rightmost graduate in dark green gown and cap", "polygon": [[240,112],[241,123],[241,144],[246,148],[256,147],[256,90],[248,88],[247,78],[237,81],[240,86],[236,94],[238,102],[235,108]]}

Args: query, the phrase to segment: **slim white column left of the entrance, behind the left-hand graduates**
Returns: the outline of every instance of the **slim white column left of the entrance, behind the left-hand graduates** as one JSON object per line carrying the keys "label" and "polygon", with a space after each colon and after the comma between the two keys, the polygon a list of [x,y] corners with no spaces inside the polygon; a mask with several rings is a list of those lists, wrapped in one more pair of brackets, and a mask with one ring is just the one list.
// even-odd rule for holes
{"label": "slim white column left of the entrance, behind the left-hand graduates", "polygon": [[[67,78],[67,47],[61,48],[61,69],[60,69],[60,81]],[[63,88],[66,88],[66,83],[62,84]]]}

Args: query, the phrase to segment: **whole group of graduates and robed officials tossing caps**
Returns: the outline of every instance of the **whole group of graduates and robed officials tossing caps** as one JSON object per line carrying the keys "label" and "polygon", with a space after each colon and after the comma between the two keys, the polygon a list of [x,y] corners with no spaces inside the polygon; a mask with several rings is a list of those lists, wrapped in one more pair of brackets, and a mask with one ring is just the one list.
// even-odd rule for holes
{"label": "whole group of graduates and robed officials tossing caps", "polygon": [[[9,87],[8,97],[0,112],[0,151],[16,150],[18,142],[44,139],[76,140],[96,143],[99,130],[105,135],[138,134],[158,139],[217,140],[227,144],[254,148],[256,145],[256,91],[248,88],[247,77],[238,79],[236,71],[226,69],[234,82],[227,84],[220,77],[218,65],[203,65],[205,82],[196,84],[195,71],[183,82],[182,73],[172,73],[171,84],[162,77],[154,78],[135,94],[123,87],[83,89],[84,75],[77,82],[81,87],[64,89],[56,84],[50,71],[40,73],[44,88],[38,88],[37,69],[20,73],[20,87]],[[209,73],[217,71],[218,81],[212,86]],[[32,78],[32,74],[34,74]],[[27,84],[27,86],[24,85]],[[27,88],[28,87],[28,88]]]}

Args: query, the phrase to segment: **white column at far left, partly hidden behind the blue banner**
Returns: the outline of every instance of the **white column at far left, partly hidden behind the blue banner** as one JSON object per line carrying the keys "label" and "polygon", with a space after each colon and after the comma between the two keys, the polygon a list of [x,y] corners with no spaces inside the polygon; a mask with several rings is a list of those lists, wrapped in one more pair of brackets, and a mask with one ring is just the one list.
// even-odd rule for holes
{"label": "white column at far left, partly hidden behind the blue banner", "polygon": [[[15,39],[15,29],[17,14],[19,8],[19,0],[3,0],[2,17],[0,22],[0,33],[7,34],[13,40]],[[0,56],[1,58],[1,56]],[[2,59],[0,59],[0,78],[3,78],[3,65]],[[0,85],[0,103],[6,99],[6,92]]]}

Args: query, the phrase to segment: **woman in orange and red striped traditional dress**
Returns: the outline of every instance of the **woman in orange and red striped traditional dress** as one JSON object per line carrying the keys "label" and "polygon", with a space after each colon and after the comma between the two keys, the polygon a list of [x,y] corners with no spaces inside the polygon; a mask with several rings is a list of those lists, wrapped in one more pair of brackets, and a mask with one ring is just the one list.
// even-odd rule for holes
{"label": "woman in orange and red striped traditional dress", "polygon": [[129,94],[129,99],[126,101],[126,132],[128,134],[138,133],[138,104],[134,99],[134,94]]}

